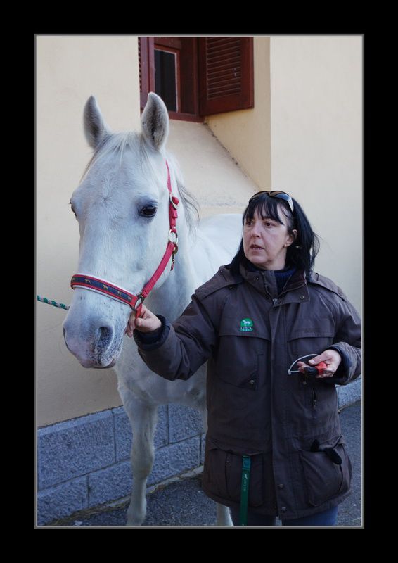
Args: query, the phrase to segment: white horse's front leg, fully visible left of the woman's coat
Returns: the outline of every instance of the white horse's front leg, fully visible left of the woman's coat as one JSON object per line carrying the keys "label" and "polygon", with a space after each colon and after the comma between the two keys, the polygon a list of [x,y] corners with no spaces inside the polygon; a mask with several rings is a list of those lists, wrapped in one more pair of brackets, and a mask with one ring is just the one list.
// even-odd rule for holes
{"label": "white horse's front leg, fully visible left of the woman's coat", "polygon": [[158,419],[158,407],[144,405],[131,393],[123,393],[124,408],[129,416],[133,431],[131,447],[131,469],[133,487],[127,510],[127,526],[140,526],[146,517],[146,481],[152,471],[155,434]]}

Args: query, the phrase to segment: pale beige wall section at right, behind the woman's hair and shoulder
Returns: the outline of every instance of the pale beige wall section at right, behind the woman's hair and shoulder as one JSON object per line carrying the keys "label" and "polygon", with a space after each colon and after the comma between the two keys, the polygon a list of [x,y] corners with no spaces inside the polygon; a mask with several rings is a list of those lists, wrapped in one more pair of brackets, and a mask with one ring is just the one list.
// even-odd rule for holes
{"label": "pale beige wall section at right, behind the woman's hair and shoulder", "polygon": [[316,270],[361,310],[362,38],[271,37],[272,187],[322,237]]}

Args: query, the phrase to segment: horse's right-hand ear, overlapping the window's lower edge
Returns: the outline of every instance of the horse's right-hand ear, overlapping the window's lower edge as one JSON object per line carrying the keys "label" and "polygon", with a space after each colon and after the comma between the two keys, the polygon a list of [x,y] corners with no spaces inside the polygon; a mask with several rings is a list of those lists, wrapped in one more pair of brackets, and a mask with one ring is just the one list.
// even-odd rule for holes
{"label": "horse's right-hand ear, overlapping the window's lower edge", "polygon": [[150,144],[160,150],[167,141],[169,134],[169,114],[165,102],[155,94],[149,92],[146,106],[141,116],[143,134]]}

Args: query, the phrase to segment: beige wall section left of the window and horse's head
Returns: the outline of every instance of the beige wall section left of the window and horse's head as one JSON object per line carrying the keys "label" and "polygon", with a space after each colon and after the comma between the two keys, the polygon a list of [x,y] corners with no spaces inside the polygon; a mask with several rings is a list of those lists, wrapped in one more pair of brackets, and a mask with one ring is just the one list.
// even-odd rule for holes
{"label": "beige wall section left of the window and horse's head", "polygon": [[[93,94],[117,130],[139,125],[133,36],[37,38],[37,293],[70,303],[79,233],[68,202],[91,156],[82,127]],[[65,348],[65,311],[37,303],[39,426],[120,405],[112,370],[84,369]]]}

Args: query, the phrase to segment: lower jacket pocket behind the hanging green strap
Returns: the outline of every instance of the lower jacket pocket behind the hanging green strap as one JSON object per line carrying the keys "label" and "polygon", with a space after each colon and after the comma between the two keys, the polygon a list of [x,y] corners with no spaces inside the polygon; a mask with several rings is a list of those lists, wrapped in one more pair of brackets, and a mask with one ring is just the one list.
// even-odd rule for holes
{"label": "lower jacket pocket behind the hanging green strap", "polygon": [[[264,503],[264,453],[250,455],[249,499],[251,507]],[[210,443],[205,451],[203,488],[219,498],[240,503],[242,455],[221,450]]]}

